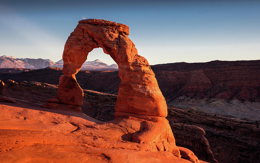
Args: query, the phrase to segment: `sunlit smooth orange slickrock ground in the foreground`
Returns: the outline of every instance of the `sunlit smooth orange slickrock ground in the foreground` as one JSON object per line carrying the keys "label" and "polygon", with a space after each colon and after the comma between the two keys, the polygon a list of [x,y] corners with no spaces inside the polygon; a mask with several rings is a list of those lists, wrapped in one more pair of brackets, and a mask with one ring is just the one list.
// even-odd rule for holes
{"label": "sunlit smooth orange slickrock ground in the foreground", "polygon": [[124,126],[82,113],[20,103],[1,103],[0,111],[0,162],[190,162],[122,140],[117,136]]}

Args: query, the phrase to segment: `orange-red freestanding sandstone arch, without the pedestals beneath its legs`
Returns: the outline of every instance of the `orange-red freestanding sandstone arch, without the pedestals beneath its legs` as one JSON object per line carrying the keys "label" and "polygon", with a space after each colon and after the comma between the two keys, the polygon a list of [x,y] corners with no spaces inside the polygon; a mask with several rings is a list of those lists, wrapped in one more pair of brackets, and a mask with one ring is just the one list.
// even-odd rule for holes
{"label": "orange-red freestanding sandstone arch, without the pedestals beneath its legs", "polygon": [[88,53],[101,47],[118,64],[121,83],[115,110],[147,116],[167,116],[166,101],[155,74],[148,61],[138,55],[127,35],[129,27],[124,24],[100,19],[79,21],[66,41],[62,56],[64,75],[60,77],[57,94],[61,103],[83,105],[83,91],[75,74],[86,61]]}

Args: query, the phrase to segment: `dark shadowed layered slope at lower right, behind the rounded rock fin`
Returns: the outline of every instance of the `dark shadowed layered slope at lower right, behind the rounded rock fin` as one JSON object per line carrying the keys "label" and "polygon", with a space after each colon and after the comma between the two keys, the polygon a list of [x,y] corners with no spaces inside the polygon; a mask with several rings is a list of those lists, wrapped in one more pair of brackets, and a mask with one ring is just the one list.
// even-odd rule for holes
{"label": "dark shadowed layered slope at lower right, behind the rounded rock fin", "polygon": [[[259,162],[259,122],[248,122],[205,113],[188,113],[187,111],[170,107],[168,107],[168,111],[170,114],[167,119],[171,125],[183,123],[196,125],[205,130],[205,138],[207,138],[210,149],[218,162]],[[181,130],[177,132],[181,132]],[[190,134],[178,135],[175,133],[176,142],[182,142],[185,138],[190,136]],[[203,145],[201,145],[200,139],[196,139],[196,137],[198,137],[198,135],[190,142],[193,146],[199,144],[200,148],[194,149],[192,146],[190,146],[190,148],[199,158],[205,157],[200,155],[201,153],[197,153],[196,150],[207,150],[205,146],[207,141],[203,142],[202,140]],[[179,144],[177,143],[177,145]],[[185,143],[181,145],[185,147],[188,144]]]}

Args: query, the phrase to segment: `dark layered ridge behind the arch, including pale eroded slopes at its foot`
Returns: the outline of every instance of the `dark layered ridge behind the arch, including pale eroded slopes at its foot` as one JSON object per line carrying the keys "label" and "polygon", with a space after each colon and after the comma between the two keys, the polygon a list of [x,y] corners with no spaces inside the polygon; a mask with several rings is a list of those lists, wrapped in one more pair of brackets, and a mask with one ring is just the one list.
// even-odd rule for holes
{"label": "dark layered ridge behind the arch, including pale eroded slopes at its foot", "polygon": [[[259,121],[259,65],[259,60],[211,61],[169,63],[151,68],[170,107]],[[3,81],[13,79],[50,84],[58,84],[57,78],[62,74],[61,69],[54,68],[16,74],[6,73],[6,69],[3,71],[0,72]],[[83,89],[118,93],[120,78],[117,71],[79,71],[76,77]]]}

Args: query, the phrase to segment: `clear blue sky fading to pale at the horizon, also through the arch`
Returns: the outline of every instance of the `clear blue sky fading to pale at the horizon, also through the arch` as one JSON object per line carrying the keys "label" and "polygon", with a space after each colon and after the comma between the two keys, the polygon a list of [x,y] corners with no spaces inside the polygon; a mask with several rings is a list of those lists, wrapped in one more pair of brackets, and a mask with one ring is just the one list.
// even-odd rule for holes
{"label": "clear blue sky fading to pale at the horizon, also through the arch", "polygon": [[[129,26],[151,65],[260,59],[260,1],[2,1],[0,56],[62,58],[82,16]],[[87,61],[114,61],[101,48]]]}

